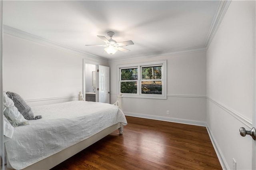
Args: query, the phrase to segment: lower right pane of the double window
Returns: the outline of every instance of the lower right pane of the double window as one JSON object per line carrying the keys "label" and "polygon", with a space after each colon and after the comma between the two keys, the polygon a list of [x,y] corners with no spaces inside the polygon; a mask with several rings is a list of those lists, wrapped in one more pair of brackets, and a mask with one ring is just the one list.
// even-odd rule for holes
{"label": "lower right pane of the double window", "polygon": [[162,81],[142,81],[141,82],[142,94],[162,94]]}

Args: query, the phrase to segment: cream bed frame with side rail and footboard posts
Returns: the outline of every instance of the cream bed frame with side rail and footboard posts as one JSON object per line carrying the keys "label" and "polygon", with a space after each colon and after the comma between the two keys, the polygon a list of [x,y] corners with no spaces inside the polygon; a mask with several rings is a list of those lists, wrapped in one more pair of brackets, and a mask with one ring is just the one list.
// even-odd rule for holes
{"label": "cream bed frame with side rail and footboard posts", "polygon": [[[79,93],[79,94],[81,94],[81,93]],[[122,97],[123,97],[122,93],[119,93],[116,103],[113,104],[113,105],[118,106],[121,110],[122,110]],[[112,125],[111,127],[108,127],[106,129],[98,132],[97,134],[94,134],[90,138],[87,138],[81,142],[78,142],[77,144],[74,144],[73,146],[70,146],[52,156],[49,156],[48,158],[44,158],[43,160],[40,160],[39,162],[36,162],[35,164],[32,164],[32,165],[24,168],[24,170],[35,170],[35,169],[49,170],[50,168],[53,168],[54,166],[60,164],[64,160],[66,160],[66,159],[70,158],[71,156],[77,154],[78,152],[84,150],[88,146],[94,144],[98,140],[104,138],[105,136],[114,132],[117,129],[119,130],[119,134],[123,134],[123,128],[124,128],[124,126],[121,123]],[[8,164],[8,162],[7,162],[7,164]],[[12,170],[10,168],[7,168],[7,166],[5,166],[5,169]]]}

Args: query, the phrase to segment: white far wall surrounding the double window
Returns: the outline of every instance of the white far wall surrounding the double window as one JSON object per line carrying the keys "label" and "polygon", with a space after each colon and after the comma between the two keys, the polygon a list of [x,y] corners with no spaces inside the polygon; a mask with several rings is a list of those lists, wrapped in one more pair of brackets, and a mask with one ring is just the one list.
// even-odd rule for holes
{"label": "white far wall surrounding the double window", "polygon": [[[167,60],[167,100],[124,97],[126,115],[204,125],[206,122],[206,52],[144,57],[110,63],[110,103],[117,96],[117,65]],[[170,115],[166,115],[166,111]]]}

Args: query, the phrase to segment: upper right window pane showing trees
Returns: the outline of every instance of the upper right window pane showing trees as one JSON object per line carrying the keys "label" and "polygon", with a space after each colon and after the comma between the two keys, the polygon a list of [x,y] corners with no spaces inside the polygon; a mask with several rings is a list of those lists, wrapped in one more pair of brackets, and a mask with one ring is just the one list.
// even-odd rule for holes
{"label": "upper right window pane showing trees", "polygon": [[142,67],[142,79],[162,79],[162,66]]}

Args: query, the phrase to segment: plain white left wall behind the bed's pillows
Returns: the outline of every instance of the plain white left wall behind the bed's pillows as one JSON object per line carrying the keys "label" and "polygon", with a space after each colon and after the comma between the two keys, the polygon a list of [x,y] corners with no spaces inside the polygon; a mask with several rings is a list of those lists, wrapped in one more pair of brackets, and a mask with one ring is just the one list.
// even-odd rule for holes
{"label": "plain white left wall behind the bed's pillows", "polygon": [[84,56],[9,34],[3,49],[4,91],[20,94],[31,106],[78,100]]}

